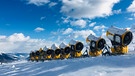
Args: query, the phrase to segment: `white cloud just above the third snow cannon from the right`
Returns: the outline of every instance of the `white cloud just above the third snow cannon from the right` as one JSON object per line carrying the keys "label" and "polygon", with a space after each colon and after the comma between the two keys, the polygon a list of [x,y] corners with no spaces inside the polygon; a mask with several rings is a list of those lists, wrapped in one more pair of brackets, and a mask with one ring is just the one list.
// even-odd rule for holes
{"label": "white cloud just above the third snow cannon from the right", "polygon": [[79,31],[74,31],[74,38],[78,37],[83,37],[86,39],[90,34],[96,35],[92,30],[79,30]]}

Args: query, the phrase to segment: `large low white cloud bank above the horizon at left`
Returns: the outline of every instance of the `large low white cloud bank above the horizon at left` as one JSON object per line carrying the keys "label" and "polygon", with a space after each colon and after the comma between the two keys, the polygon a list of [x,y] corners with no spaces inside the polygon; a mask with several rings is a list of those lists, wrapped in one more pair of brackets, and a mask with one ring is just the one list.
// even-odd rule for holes
{"label": "large low white cloud bank above the horizon at left", "polygon": [[23,33],[14,33],[10,36],[0,35],[0,52],[15,53],[26,52],[29,53],[32,50],[38,50],[44,46],[50,47],[52,41],[44,39],[32,39],[30,36],[24,36]]}

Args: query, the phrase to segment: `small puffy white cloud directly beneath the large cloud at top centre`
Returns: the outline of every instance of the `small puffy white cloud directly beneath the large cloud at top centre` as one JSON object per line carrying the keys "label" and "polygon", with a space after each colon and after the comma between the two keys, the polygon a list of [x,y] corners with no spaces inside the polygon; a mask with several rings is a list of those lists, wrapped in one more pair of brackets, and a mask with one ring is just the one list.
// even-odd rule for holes
{"label": "small puffy white cloud directly beneath the large cloud at top centre", "polygon": [[79,26],[81,28],[84,28],[87,24],[87,22],[83,19],[79,19],[79,20],[76,20],[76,21],[71,21],[70,24],[72,26]]}

